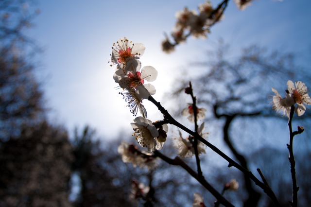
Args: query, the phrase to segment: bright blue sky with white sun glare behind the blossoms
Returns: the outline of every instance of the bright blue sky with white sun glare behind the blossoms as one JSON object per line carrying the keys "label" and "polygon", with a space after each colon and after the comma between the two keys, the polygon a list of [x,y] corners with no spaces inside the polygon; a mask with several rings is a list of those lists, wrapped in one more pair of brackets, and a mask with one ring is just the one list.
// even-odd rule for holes
{"label": "bright blue sky with white sun glare behind the blossoms", "polygon": [[[113,138],[120,129],[131,132],[132,114],[113,80],[110,67],[113,42],[126,36],[146,47],[140,58],[143,66],[153,66],[158,77],[152,84],[155,100],[163,102],[173,88],[174,78],[183,69],[198,73],[191,62],[204,60],[206,51],[220,38],[231,51],[259,44],[268,49],[296,52],[307,60],[311,52],[310,0],[258,0],[244,11],[230,0],[225,19],[211,28],[207,40],[188,38],[175,52],[161,51],[164,32],[170,34],[175,13],[185,6],[196,9],[204,0],[40,0],[41,14],[28,35],[37,40],[44,53],[37,69],[44,83],[45,98],[52,109],[51,119],[63,123],[70,132],[86,124],[98,135]],[[221,0],[212,0],[213,6]],[[190,73],[191,73],[190,72]],[[143,101],[148,118],[161,120],[154,105]],[[165,106],[165,105],[164,105]],[[187,102],[185,103],[185,107]],[[186,122],[186,118],[182,120]]]}

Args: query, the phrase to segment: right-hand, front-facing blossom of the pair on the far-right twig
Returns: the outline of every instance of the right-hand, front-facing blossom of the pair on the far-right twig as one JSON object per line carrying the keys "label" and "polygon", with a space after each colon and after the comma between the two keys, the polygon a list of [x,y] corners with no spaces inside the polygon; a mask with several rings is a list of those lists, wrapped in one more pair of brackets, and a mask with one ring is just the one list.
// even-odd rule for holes
{"label": "right-hand, front-facing blossom of the pair on the far-right twig", "polygon": [[294,103],[297,104],[295,112],[298,116],[302,116],[306,111],[305,105],[311,105],[308,88],[301,81],[295,82],[294,86],[293,81],[289,80],[287,81],[287,86],[291,97],[294,99]]}

